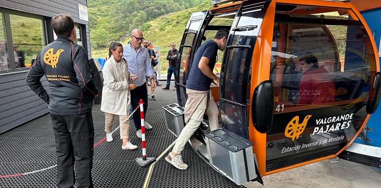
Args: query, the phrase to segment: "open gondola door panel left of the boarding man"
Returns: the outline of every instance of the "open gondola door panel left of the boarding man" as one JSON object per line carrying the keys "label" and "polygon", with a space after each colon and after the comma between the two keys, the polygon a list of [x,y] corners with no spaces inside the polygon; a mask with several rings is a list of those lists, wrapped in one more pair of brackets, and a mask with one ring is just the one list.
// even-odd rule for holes
{"label": "open gondola door panel left of the boarding man", "polygon": [[192,64],[192,57],[195,52],[195,41],[199,35],[201,26],[204,25],[208,11],[192,13],[184,31],[179,49],[179,58],[177,61],[177,71],[179,77],[176,78],[177,100],[181,106],[185,106],[187,101],[186,85],[189,70]]}

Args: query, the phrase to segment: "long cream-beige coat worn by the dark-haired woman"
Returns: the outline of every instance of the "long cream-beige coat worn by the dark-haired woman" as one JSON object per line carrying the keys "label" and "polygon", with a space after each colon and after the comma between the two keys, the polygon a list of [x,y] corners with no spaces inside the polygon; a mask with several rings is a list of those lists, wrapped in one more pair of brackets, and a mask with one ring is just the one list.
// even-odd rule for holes
{"label": "long cream-beige coat worn by the dark-haired woman", "polygon": [[100,110],[115,115],[128,115],[131,102],[128,89],[130,73],[128,64],[123,58],[119,63],[123,63],[124,72],[112,55],[103,66],[104,81]]}

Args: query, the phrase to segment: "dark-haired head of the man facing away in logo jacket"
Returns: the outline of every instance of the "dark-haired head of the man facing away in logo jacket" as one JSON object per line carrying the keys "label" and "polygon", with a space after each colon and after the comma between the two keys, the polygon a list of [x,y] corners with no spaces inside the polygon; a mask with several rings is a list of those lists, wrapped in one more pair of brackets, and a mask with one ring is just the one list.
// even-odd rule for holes
{"label": "dark-haired head of the man facing away in logo jacket", "polygon": [[74,20],[69,14],[57,14],[53,17],[51,26],[58,37],[69,38],[74,28]]}

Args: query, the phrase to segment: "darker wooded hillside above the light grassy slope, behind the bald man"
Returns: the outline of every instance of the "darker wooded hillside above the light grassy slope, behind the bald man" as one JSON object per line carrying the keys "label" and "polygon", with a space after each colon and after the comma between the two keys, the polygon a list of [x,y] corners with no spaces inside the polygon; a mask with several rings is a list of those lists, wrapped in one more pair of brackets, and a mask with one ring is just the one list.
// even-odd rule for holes
{"label": "darker wooded hillside above the light grassy slope, behind the bald man", "polygon": [[107,47],[126,32],[159,16],[184,10],[203,0],[88,0],[92,48]]}

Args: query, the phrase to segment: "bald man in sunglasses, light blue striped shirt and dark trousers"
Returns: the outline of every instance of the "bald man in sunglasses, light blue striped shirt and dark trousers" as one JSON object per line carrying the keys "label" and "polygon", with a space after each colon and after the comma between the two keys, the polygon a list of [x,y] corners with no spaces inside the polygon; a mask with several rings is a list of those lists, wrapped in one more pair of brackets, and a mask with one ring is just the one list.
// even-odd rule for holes
{"label": "bald man in sunglasses, light blue striped shirt and dark trousers", "polygon": [[[126,58],[128,63],[128,69],[131,74],[137,75],[138,79],[132,84],[137,87],[131,91],[131,104],[134,108],[139,105],[139,100],[143,99],[144,117],[147,112],[148,95],[147,88],[145,87],[145,76],[151,81],[151,87],[155,88],[156,83],[154,80],[155,71],[151,65],[151,58],[148,53],[148,49],[142,47],[144,41],[143,33],[139,29],[134,29],[131,32],[131,43],[123,47],[123,57]],[[152,81],[153,80],[153,81]],[[133,115],[136,135],[138,138],[142,138],[142,127],[140,119],[140,109],[138,109]],[[144,128],[146,130],[152,129],[152,126],[147,122],[144,122]]]}

